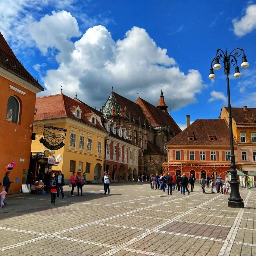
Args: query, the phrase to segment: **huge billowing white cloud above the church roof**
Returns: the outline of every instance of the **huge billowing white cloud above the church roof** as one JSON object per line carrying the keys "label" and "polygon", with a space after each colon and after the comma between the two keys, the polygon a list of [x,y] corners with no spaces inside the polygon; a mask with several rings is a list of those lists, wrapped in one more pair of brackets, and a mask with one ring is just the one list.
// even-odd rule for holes
{"label": "huge billowing white cloud above the church roof", "polygon": [[74,97],[77,92],[78,98],[100,108],[113,85],[115,92],[133,101],[140,90],[142,98],[156,105],[162,82],[165,101],[175,110],[196,102],[195,95],[203,88],[198,70],[180,71],[167,50],[139,27],[117,42],[105,27],[89,28],[74,43],[70,56],[57,70],[47,71],[43,78],[47,90],[41,95],[59,93],[63,84],[63,93]]}

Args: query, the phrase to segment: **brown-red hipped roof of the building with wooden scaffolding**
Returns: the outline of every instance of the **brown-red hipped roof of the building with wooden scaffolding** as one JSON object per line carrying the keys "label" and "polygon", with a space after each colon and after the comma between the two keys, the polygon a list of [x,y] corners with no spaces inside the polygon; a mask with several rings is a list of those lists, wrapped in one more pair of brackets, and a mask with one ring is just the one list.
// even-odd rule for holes
{"label": "brown-red hipped roof of the building with wooden scaffolding", "polygon": [[[194,134],[194,140],[188,137]],[[215,140],[209,139],[214,134]],[[237,145],[233,138],[234,145]],[[197,119],[166,145],[230,145],[229,127],[224,119]]]}

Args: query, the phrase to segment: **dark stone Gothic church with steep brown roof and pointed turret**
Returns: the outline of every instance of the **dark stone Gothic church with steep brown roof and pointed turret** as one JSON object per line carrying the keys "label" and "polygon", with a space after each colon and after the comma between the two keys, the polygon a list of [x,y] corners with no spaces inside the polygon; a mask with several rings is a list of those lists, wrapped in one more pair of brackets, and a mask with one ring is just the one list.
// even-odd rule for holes
{"label": "dark stone Gothic church with steep brown roof and pointed turret", "polygon": [[140,97],[133,102],[111,92],[102,112],[118,126],[125,128],[129,140],[139,146],[138,174],[145,173],[145,170],[148,174],[160,173],[162,163],[167,159],[164,144],[181,132],[167,113],[163,91],[157,107]]}

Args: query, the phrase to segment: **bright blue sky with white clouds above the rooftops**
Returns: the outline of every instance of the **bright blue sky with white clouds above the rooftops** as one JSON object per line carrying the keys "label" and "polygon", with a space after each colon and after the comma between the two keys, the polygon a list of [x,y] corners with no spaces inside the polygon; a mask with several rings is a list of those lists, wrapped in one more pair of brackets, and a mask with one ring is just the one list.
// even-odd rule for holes
{"label": "bright blue sky with white clouds above the rooftops", "polygon": [[[183,128],[217,118],[226,78],[208,79],[217,48],[245,49],[250,67],[233,79],[231,104],[256,107],[256,2],[0,0],[0,31],[45,86],[98,109],[114,91],[156,105],[161,92]],[[241,57],[239,65],[241,64]]]}

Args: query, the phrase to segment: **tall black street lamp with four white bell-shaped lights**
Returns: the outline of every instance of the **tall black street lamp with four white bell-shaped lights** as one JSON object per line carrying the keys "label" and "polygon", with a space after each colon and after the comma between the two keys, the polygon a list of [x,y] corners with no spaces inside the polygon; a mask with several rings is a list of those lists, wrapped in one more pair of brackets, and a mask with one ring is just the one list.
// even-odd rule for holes
{"label": "tall black street lamp with four white bell-shaped lights", "polygon": [[[232,54],[234,51],[236,51],[234,54]],[[227,54],[227,49],[225,53],[221,50],[218,49],[216,52],[216,57],[212,60],[211,62],[211,68],[210,68],[210,75],[209,79],[214,79],[216,78],[214,71],[213,70],[218,70],[221,69],[221,65],[219,60],[221,60],[224,64],[224,73],[226,75],[226,80],[227,80],[227,96],[228,96],[228,108],[229,108],[229,136],[230,136],[230,173],[231,173],[231,180],[230,180],[230,187],[231,187],[231,192],[230,192],[230,197],[228,198],[228,207],[232,208],[244,208],[244,202],[243,199],[240,196],[239,193],[239,181],[236,178],[236,160],[235,160],[235,154],[234,154],[234,143],[233,143],[233,129],[232,129],[232,116],[231,116],[231,105],[230,105],[230,90],[229,90],[229,75],[230,75],[230,67],[235,66],[235,78],[241,77],[241,73],[239,71],[239,67],[237,66],[237,58],[243,53],[242,56],[242,64],[241,68],[246,68],[249,67],[249,63],[247,62],[246,56],[245,56],[245,51],[243,48],[235,48],[233,51],[230,52],[230,54]],[[212,66],[214,63],[214,66]]]}

